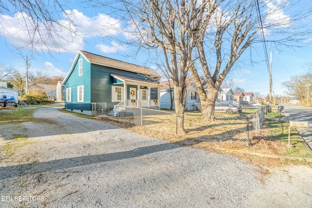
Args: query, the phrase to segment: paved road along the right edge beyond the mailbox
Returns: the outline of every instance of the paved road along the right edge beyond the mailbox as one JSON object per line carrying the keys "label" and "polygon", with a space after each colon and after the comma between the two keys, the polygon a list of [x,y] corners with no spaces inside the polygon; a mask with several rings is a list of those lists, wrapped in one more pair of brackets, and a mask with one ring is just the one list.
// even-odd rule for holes
{"label": "paved road along the right edge beyond the mailbox", "polygon": [[282,113],[288,120],[308,121],[307,129],[297,129],[297,131],[306,141],[310,153],[312,153],[312,108],[287,104],[282,104],[282,106],[284,106]]}

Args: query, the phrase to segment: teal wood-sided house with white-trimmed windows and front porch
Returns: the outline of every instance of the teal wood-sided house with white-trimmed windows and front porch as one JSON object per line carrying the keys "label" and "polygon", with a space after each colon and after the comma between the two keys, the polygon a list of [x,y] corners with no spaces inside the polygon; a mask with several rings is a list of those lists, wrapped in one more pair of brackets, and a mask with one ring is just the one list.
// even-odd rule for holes
{"label": "teal wood-sided house with white-trimmed windows and front porch", "polygon": [[160,77],[150,68],[79,50],[62,83],[65,109],[92,115],[94,103],[105,103],[115,116],[127,107],[159,110]]}

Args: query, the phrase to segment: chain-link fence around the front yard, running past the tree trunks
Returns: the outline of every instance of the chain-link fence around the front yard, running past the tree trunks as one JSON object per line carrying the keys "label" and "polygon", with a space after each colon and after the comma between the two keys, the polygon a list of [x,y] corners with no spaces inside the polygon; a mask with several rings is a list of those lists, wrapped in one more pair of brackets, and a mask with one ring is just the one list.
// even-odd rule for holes
{"label": "chain-link fence around the front yard, running past the tree trunks", "polygon": [[[230,141],[238,146],[248,146],[264,122],[268,107],[258,108],[249,116],[230,114],[223,116],[201,115],[200,112],[177,115],[173,111],[159,111],[138,107],[126,107],[118,119],[127,121],[134,126],[140,126],[142,131],[161,136],[179,136],[177,132],[177,117],[184,117],[184,129],[187,139],[206,142]],[[220,114],[220,115],[219,115]]]}

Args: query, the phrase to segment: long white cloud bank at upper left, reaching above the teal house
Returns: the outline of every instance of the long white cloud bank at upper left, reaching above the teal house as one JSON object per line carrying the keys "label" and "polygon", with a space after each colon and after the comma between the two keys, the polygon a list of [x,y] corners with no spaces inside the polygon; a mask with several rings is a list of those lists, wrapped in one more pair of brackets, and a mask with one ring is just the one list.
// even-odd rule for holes
{"label": "long white cloud bank at upper left, reaching above the teal house", "polygon": [[[65,15],[66,14],[66,15]],[[14,47],[47,52],[76,53],[83,49],[86,38],[117,36],[121,32],[121,23],[108,15],[98,14],[89,18],[74,9],[66,10],[63,19],[51,22],[51,30],[47,31],[41,22],[31,19],[27,14],[18,12],[14,17],[0,15],[0,35],[4,36]],[[73,21],[70,22],[68,17]],[[38,24],[38,30],[32,28]],[[40,34],[38,33],[40,31]],[[75,32],[74,32],[75,31]],[[32,42],[32,44],[30,44]],[[60,47],[58,47],[60,46]],[[120,47],[118,47],[121,49]]]}

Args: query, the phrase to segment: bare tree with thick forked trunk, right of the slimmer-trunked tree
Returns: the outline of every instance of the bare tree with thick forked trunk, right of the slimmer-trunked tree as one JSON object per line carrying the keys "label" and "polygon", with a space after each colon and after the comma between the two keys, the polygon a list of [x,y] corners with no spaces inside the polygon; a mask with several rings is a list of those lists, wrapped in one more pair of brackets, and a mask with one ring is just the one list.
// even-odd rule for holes
{"label": "bare tree with thick forked trunk, right of the slimmer-trunked tree", "polygon": [[[300,4],[284,0],[275,4],[271,1],[218,1],[213,21],[206,21],[204,16],[198,17],[202,22],[196,26],[197,30],[192,33],[192,38],[196,40],[199,64],[194,64],[191,71],[197,80],[202,114],[214,115],[215,100],[221,83],[243,52],[252,44],[263,42],[264,35],[276,45],[293,46],[304,38],[299,35],[302,34],[304,25],[294,24],[309,16],[311,7],[302,1],[301,3],[306,8],[302,8],[301,13],[296,13],[295,10],[292,16],[288,16],[281,12],[288,11],[295,4],[299,7]],[[305,32],[304,34],[308,35]],[[199,82],[199,66],[207,80],[207,93]]]}

